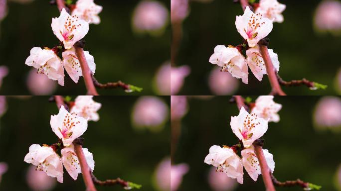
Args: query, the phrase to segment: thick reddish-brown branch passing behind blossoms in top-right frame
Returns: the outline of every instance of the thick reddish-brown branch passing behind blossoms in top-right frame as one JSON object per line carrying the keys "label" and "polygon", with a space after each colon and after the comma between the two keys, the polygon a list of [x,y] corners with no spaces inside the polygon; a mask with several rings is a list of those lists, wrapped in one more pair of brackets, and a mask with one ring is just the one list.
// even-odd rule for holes
{"label": "thick reddish-brown branch passing behind blossoms in top-right frame", "polygon": [[[250,6],[248,0],[239,0],[239,1],[244,11],[245,11],[246,6],[249,6],[250,9],[252,9],[252,6]],[[268,73],[268,78],[272,87],[271,93],[274,95],[286,95],[278,83],[276,71],[274,69],[274,65],[272,64],[272,61],[268,52],[268,47],[263,44],[259,44],[259,49],[264,59],[266,72]]]}

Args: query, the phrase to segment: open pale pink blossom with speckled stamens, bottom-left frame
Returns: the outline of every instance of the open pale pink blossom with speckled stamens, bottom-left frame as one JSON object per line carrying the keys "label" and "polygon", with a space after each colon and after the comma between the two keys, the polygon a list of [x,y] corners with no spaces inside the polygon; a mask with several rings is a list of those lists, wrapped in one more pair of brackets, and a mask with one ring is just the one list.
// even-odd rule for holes
{"label": "open pale pink blossom with speckled stamens, bottom-left frame", "polygon": [[57,115],[51,115],[50,125],[67,147],[86,131],[88,121],[75,112],[69,113],[62,105]]}

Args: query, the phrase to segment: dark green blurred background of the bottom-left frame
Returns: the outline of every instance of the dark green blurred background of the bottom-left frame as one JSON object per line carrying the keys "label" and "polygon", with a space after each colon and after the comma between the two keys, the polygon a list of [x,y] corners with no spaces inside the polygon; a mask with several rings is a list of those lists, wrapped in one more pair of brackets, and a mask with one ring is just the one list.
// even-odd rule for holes
{"label": "dark green blurred background of the bottom-left frame", "polygon": [[[7,97],[8,110],[0,120],[0,162],[8,164],[2,176],[1,191],[26,191],[26,170],[31,164],[23,162],[31,144],[53,144],[56,135],[50,127],[50,115],[57,114],[55,103],[48,96],[27,99]],[[75,97],[73,97],[75,98]],[[100,120],[89,121],[84,148],[93,153],[94,174],[99,180],[120,177],[143,185],[152,191],[152,176],[158,163],[170,154],[170,122],[159,133],[136,132],[131,126],[131,110],[138,96],[96,96],[102,103]],[[170,98],[160,97],[168,105]],[[141,144],[143,143],[143,144]],[[120,186],[100,187],[98,191],[122,191]],[[73,181],[64,171],[64,183],[54,191],[85,190],[81,174]]]}

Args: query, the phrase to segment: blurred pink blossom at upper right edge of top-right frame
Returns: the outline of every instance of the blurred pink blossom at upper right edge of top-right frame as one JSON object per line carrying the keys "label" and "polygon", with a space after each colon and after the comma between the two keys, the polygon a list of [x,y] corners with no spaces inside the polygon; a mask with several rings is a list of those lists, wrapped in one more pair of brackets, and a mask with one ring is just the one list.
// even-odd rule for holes
{"label": "blurred pink blossom at upper right edge of top-right frame", "polygon": [[341,2],[323,0],[315,12],[315,27],[320,31],[341,31]]}

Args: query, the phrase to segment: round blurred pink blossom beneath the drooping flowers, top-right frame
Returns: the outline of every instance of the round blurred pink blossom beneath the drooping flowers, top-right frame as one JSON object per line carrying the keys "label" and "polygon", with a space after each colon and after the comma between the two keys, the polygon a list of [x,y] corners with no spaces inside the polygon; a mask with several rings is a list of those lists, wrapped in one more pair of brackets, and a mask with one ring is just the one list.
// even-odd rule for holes
{"label": "round blurred pink blossom beneath the drooping flowers, top-right frame", "polygon": [[231,95],[238,88],[238,80],[230,73],[220,72],[219,68],[214,68],[209,74],[209,88],[214,95]]}

